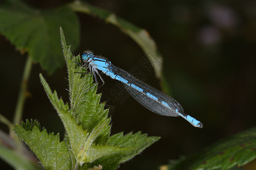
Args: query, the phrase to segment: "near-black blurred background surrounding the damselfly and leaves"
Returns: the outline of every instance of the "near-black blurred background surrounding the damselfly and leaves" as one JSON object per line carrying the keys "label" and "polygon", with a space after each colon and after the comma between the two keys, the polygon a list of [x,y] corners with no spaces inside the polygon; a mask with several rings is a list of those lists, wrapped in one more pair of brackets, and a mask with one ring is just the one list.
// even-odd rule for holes
{"label": "near-black blurred background surrounding the damselfly and leaves", "polygon": [[[25,2],[43,10],[71,1]],[[114,105],[110,113],[112,134],[142,131],[161,137],[142,154],[121,164],[120,169],[156,169],[170,159],[194,154],[220,138],[256,125],[255,1],[87,2],[147,29],[162,53],[171,96],[179,101],[185,113],[204,124],[199,129],[181,117],[159,116],[132,97],[120,104],[109,90],[116,81],[103,75],[105,85],[98,91]],[[144,57],[142,49],[117,27],[89,15],[78,15],[81,42],[74,54],[91,49],[124,70],[130,70]],[[21,55],[3,36],[0,48],[1,114],[12,121],[27,54]],[[62,139],[63,125],[40,84],[39,73],[68,102],[65,66],[48,75],[35,63],[28,83],[31,97],[24,106],[23,119],[38,119],[49,132],[60,133]],[[146,82],[161,87],[154,73]],[[3,124],[0,128],[8,131]],[[1,167],[11,169],[3,160],[0,163]]]}

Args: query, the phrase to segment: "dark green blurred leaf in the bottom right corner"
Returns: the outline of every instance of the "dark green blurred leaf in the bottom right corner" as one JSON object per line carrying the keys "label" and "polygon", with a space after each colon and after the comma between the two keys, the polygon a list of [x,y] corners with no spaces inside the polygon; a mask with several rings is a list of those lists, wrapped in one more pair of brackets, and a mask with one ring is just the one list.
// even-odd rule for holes
{"label": "dark green blurred leaf in the bottom right corner", "polygon": [[168,169],[230,169],[256,158],[256,127],[222,139],[198,154],[172,162]]}

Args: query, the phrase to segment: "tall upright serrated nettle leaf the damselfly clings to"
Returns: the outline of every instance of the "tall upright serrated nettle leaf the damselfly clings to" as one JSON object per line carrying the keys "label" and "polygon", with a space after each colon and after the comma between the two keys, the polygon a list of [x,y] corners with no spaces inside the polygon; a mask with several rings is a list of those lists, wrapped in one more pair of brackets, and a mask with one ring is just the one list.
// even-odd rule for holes
{"label": "tall upright serrated nettle leaf the damselfly clings to", "polygon": [[[68,67],[69,99],[71,100],[72,112],[75,114],[77,123],[89,133],[95,126],[104,120],[110,122],[108,109],[104,109],[105,103],[100,103],[101,94],[96,94],[97,86],[94,86],[92,75],[82,75],[86,69],[81,67],[80,56],[73,57],[70,46],[67,46],[63,30],[60,29],[61,44],[64,58]],[[110,125],[102,127],[97,137],[97,144],[103,145],[109,138]]]}

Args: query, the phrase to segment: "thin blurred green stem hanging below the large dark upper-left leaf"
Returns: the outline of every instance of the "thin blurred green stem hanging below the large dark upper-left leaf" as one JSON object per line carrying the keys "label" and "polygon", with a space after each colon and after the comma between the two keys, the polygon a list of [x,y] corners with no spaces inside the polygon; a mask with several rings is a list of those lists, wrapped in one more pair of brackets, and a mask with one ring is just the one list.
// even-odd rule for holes
{"label": "thin blurred green stem hanging below the large dark upper-left leaf", "polygon": [[27,97],[26,95],[27,82],[30,76],[31,67],[32,67],[32,58],[28,56],[27,62],[24,68],[23,76],[22,76],[22,81],[20,83],[19,96],[16,104],[15,113],[14,113],[14,120],[13,120],[14,124],[19,124],[22,118],[23,107]]}

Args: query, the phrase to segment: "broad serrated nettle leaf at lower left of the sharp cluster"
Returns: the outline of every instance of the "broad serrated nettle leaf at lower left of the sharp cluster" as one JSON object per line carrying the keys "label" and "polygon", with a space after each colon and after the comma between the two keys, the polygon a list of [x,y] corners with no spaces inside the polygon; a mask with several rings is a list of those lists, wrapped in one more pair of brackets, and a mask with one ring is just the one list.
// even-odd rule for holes
{"label": "broad serrated nettle leaf at lower left of the sharp cluster", "polygon": [[[36,121],[35,121],[36,122]],[[46,169],[71,169],[71,159],[68,156],[68,147],[65,142],[60,142],[59,134],[48,134],[44,129],[40,131],[37,126],[31,130],[34,121],[22,123],[22,126],[15,125],[14,131],[39,158]]]}

